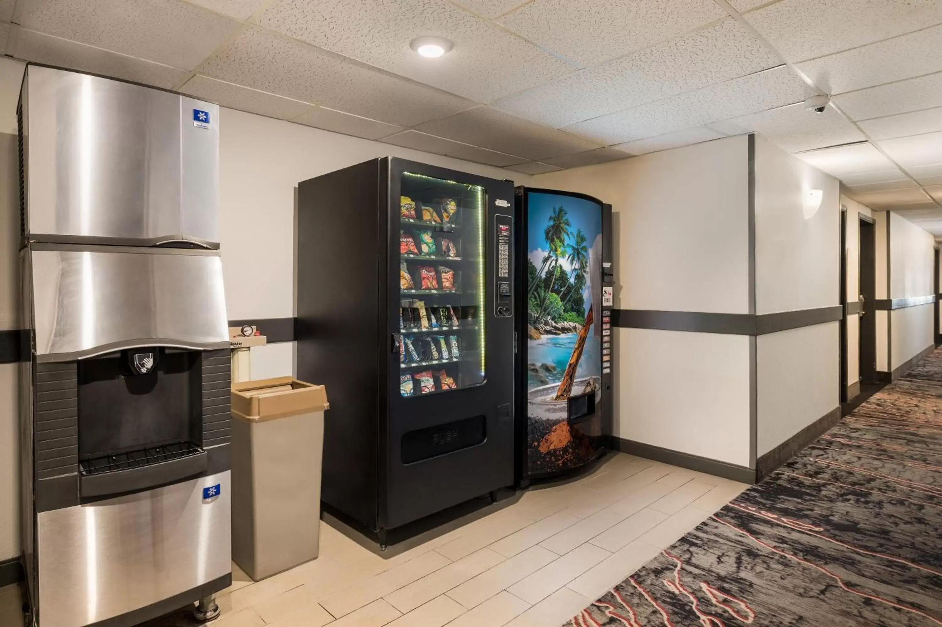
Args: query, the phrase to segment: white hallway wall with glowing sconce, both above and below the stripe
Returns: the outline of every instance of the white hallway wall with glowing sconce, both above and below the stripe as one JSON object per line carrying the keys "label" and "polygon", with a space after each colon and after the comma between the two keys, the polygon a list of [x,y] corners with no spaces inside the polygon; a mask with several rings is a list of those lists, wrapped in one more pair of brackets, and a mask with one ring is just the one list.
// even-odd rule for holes
{"label": "white hallway wall with glowing sconce, both above and below the stripe", "polygon": [[[805,206],[809,190],[821,203]],[[755,312],[838,305],[840,186],[755,138]],[[838,322],[755,340],[756,454],[769,453],[840,404]]]}

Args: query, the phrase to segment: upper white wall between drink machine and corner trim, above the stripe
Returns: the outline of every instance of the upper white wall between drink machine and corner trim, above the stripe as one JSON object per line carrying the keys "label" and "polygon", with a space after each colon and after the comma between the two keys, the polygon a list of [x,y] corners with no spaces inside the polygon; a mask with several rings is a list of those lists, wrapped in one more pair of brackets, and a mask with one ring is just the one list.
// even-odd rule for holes
{"label": "upper white wall between drink machine and corner trim, above the stripe", "polygon": [[539,174],[609,203],[622,309],[749,313],[746,137]]}

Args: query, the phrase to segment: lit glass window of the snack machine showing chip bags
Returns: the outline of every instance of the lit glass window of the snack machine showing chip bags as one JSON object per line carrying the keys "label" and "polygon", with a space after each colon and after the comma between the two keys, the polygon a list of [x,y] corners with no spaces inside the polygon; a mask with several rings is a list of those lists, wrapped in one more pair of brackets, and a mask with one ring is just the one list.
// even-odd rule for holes
{"label": "lit glass window of the snack machine showing chip bags", "polygon": [[484,215],[478,185],[402,173],[399,197],[399,394],[485,380]]}

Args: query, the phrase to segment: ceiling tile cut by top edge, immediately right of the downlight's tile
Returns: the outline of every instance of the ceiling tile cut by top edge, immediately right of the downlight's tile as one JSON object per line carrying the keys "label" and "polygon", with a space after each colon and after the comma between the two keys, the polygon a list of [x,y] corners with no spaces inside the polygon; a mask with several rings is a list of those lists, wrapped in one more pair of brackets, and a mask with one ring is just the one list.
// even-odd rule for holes
{"label": "ceiling tile cut by top edge, immediately right of the downlight's tile", "polygon": [[500,23],[565,58],[595,65],[726,17],[712,0],[534,0]]}

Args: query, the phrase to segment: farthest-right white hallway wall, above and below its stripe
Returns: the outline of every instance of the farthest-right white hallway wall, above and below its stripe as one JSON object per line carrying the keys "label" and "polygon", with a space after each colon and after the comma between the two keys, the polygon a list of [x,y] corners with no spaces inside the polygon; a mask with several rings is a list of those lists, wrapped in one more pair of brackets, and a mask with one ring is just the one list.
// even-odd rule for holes
{"label": "farthest-right white hallway wall, above and below its stripe", "polygon": [[[912,298],[934,293],[934,237],[896,213],[890,221],[890,296]],[[935,306],[918,305],[890,311],[892,357],[889,370],[934,344]]]}

